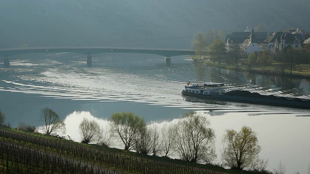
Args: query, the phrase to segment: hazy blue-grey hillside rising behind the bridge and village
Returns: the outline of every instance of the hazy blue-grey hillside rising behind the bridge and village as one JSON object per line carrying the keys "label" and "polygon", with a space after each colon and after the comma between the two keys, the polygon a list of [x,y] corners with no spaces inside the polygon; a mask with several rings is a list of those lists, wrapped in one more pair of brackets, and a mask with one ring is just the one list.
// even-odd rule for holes
{"label": "hazy blue-grey hillside rising behind the bridge and village", "polygon": [[310,30],[309,9],[309,0],[0,0],[0,48],[189,48],[199,30]]}

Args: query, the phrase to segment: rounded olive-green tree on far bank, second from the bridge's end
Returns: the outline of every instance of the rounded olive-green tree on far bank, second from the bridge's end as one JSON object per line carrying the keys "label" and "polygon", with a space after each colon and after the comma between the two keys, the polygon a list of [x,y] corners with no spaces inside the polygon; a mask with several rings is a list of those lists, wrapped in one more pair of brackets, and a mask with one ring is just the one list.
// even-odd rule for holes
{"label": "rounded olive-green tree on far bank, second from the bridge's end", "polygon": [[208,46],[208,52],[209,55],[213,57],[214,60],[217,59],[217,63],[220,64],[222,61],[221,58],[226,54],[225,43],[216,39],[210,46]]}

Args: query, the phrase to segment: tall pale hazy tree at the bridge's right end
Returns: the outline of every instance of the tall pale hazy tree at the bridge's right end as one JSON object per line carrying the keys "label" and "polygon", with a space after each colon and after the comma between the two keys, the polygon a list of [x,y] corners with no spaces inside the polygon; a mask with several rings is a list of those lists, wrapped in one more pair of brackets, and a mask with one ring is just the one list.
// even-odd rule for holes
{"label": "tall pale hazy tree at the bridge's right end", "polygon": [[192,39],[192,48],[195,49],[195,53],[197,56],[199,56],[200,59],[205,54],[205,40],[206,36],[203,31],[198,31],[196,34],[194,34]]}

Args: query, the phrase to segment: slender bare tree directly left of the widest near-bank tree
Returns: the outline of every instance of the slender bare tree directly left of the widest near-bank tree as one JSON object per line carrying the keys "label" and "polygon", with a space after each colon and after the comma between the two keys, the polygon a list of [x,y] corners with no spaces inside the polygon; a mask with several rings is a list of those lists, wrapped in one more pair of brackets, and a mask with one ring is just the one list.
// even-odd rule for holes
{"label": "slender bare tree directly left of the widest near-bank tree", "polygon": [[165,157],[170,156],[175,152],[173,149],[175,134],[173,131],[172,124],[164,124],[160,131],[161,134],[161,151],[164,153]]}

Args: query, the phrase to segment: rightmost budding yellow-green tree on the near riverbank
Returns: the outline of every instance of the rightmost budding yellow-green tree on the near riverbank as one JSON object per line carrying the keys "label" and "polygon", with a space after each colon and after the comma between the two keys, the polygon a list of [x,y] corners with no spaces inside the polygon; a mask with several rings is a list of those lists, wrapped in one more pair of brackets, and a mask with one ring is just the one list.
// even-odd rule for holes
{"label": "rightmost budding yellow-green tree on the near riverbank", "polygon": [[256,133],[247,126],[243,126],[239,132],[226,130],[222,144],[223,164],[231,169],[250,167],[261,151]]}

